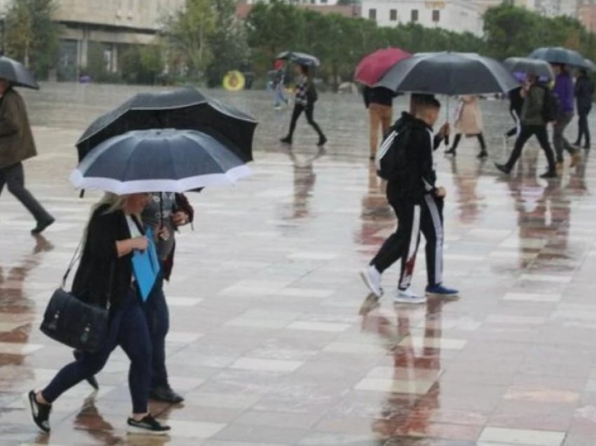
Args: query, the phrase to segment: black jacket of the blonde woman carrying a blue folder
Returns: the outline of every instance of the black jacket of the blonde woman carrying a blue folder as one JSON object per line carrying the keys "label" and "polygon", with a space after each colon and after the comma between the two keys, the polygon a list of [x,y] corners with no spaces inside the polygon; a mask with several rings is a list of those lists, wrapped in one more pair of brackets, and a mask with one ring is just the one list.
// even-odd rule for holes
{"label": "black jacket of the blonde woman carrying a blue folder", "polygon": [[[116,241],[130,238],[126,216],[121,210],[106,214],[108,208],[102,205],[91,216],[72,284],[72,292],[79,299],[102,308],[117,306],[122,301],[130,291],[133,276],[132,253],[118,258],[116,250]],[[139,222],[135,222],[144,234]]]}

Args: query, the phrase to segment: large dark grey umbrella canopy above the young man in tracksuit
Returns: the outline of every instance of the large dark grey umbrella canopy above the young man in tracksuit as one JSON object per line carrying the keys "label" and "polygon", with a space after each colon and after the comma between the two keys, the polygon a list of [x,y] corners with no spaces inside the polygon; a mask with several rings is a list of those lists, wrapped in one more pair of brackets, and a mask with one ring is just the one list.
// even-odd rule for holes
{"label": "large dark grey umbrella canopy above the young man in tracksuit", "polygon": [[519,83],[501,62],[475,53],[419,53],[394,65],[375,85],[409,93],[506,93]]}

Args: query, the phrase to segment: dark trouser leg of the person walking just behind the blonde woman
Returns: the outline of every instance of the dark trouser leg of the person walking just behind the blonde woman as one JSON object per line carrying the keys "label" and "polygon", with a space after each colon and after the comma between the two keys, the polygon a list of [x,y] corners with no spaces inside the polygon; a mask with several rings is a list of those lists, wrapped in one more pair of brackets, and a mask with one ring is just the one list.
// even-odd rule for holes
{"label": "dark trouser leg of the person walking just behind the blonde woman", "polygon": [[151,345],[153,350],[153,377],[151,388],[158,386],[169,387],[168,372],[165,369],[165,335],[170,330],[170,313],[163,294],[163,278],[158,277],[154,289],[145,305]]}

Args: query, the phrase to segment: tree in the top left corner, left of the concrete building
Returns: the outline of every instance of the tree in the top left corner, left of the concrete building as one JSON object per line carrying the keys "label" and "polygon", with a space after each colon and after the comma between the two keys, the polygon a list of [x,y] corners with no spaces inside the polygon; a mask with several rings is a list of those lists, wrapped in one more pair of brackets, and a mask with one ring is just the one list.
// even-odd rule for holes
{"label": "tree in the top left corner, left of the concrete building", "polygon": [[57,59],[60,25],[52,21],[55,0],[12,0],[6,11],[4,49],[38,76]]}

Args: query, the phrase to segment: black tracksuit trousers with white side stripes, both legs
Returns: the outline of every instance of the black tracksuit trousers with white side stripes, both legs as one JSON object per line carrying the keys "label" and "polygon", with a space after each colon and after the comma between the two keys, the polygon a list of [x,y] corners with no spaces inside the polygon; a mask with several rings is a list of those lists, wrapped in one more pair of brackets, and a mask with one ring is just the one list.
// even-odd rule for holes
{"label": "black tracksuit trousers with white side stripes, both legs", "polygon": [[398,288],[405,290],[412,283],[416,252],[418,252],[420,233],[422,233],[426,239],[428,285],[442,283],[443,199],[426,194],[421,203],[412,203],[398,194],[395,189],[388,184],[387,198],[398,217],[398,228],[383,243],[370,264],[382,273],[401,259]]}

